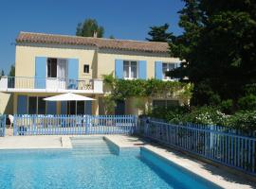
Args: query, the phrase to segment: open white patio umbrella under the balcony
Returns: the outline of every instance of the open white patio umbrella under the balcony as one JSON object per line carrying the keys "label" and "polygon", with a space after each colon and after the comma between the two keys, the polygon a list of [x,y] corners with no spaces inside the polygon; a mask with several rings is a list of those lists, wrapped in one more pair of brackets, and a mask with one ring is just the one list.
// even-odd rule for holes
{"label": "open white patio umbrella under the balcony", "polygon": [[95,100],[94,98],[91,97],[86,97],[83,95],[79,94],[59,94],[59,95],[54,95],[50,97],[44,98],[46,101],[89,101],[89,100]]}

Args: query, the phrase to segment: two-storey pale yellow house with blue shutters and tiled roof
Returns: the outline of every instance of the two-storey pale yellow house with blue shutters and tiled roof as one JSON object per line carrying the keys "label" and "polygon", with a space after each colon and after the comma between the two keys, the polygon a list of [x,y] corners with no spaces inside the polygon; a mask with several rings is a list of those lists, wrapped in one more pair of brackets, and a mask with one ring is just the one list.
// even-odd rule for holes
{"label": "two-storey pale yellow house with blue shutters and tiled roof", "polygon": [[[170,80],[165,72],[179,66],[180,60],[171,58],[168,51],[168,43],[20,32],[16,39],[15,77],[2,77],[0,92],[13,97],[14,114],[101,114],[101,98],[106,94],[102,75]],[[67,92],[96,100],[43,100]],[[154,100],[162,104],[174,99]],[[120,103],[116,113],[139,113],[132,104]]]}

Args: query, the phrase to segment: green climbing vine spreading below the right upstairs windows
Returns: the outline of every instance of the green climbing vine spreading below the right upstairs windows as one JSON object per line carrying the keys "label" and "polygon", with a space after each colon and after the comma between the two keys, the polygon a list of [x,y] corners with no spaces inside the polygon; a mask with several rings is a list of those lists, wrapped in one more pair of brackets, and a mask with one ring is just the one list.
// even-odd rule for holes
{"label": "green climbing vine spreading below the right upstairs windows", "polygon": [[158,79],[117,79],[110,75],[104,75],[104,85],[111,91],[113,100],[123,100],[129,97],[174,97],[189,102],[192,97],[191,83],[178,81],[163,81]]}

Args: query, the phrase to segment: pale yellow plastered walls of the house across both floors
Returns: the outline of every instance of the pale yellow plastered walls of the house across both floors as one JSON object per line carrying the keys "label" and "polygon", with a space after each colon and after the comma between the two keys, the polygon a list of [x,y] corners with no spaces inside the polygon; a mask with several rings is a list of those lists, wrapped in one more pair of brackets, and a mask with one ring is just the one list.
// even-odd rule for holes
{"label": "pale yellow plastered walls of the house across both floors", "polygon": [[[19,43],[16,45],[15,77],[35,77],[35,57],[78,59],[79,78],[101,78],[102,75],[115,74],[115,60],[146,60],[147,78],[155,77],[155,61],[180,62],[179,59],[170,58],[168,54],[148,53],[138,51],[124,51],[113,49],[97,49],[93,46],[83,45],[58,45]],[[83,74],[83,64],[89,64],[89,74]],[[33,79],[31,85],[34,86]],[[16,80],[15,80],[16,82]],[[17,83],[15,83],[17,84]],[[50,96],[49,93],[15,93],[13,96],[13,113],[17,112],[17,96],[26,94],[30,96]],[[92,114],[99,114],[100,95],[91,95],[97,100],[92,102]],[[146,98],[145,107],[148,109],[151,99]],[[140,114],[136,99],[126,100],[125,112],[127,114]],[[6,103],[6,102],[5,102]],[[7,104],[7,103],[6,103]],[[57,103],[57,113],[61,112],[61,105]]]}

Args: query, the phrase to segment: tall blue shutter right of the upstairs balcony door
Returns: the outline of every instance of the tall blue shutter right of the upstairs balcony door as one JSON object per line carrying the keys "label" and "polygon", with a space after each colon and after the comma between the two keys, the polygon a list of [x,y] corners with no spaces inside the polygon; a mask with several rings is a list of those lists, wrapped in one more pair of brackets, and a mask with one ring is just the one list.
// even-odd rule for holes
{"label": "tall blue shutter right of the upstairs balcony door", "polygon": [[79,75],[79,60],[78,59],[69,59],[68,60],[68,89],[77,89],[78,88],[78,75]]}

